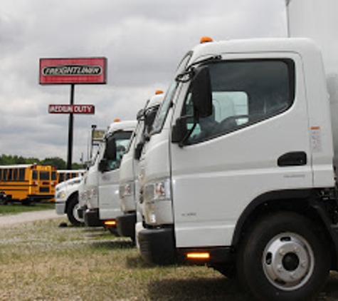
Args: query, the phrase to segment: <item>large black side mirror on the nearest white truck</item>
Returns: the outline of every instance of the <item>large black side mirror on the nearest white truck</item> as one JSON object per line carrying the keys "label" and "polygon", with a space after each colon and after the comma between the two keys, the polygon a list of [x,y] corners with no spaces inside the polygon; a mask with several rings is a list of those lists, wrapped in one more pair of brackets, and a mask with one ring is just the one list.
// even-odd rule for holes
{"label": "large black side mirror on the nearest white truck", "polygon": [[191,101],[199,118],[212,115],[211,79],[208,66],[196,69],[196,75],[191,82]]}

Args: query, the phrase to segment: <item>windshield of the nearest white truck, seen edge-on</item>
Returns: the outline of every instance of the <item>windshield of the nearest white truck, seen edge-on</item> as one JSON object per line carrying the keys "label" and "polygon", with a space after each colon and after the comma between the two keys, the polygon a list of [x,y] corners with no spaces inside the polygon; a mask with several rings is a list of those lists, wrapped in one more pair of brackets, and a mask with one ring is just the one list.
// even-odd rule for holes
{"label": "windshield of the nearest white truck, seen edge-on", "polygon": [[[186,56],[184,56],[181,63],[179,63],[179,67],[177,68],[176,75],[180,74],[184,71],[189,59],[191,58],[191,55],[192,55],[192,52],[189,52],[189,53],[186,54]],[[175,76],[175,78],[176,78],[176,76]],[[168,113],[169,108],[171,106],[171,99],[174,96],[177,85],[178,85],[178,83],[175,80],[172,81],[172,83],[170,84],[169,89],[167,91],[167,94],[164,97],[162,106],[161,106],[161,108],[159,108],[159,112],[157,113],[157,117],[154,121],[152,134],[159,133],[162,130],[162,127],[164,125],[164,121],[167,118],[167,113]]]}

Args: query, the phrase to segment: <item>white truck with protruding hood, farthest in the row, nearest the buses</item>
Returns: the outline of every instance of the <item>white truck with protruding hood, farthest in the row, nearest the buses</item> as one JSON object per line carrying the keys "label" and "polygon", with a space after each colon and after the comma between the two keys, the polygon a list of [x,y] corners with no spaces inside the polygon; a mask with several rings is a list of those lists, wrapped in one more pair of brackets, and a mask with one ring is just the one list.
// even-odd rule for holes
{"label": "white truck with protruding hood, farthest in the row, nearest the buses", "polygon": [[84,222],[83,218],[78,215],[78,188],[81,180],[83,180],[83,173],[84,171],[80,170],[77,177],[64,180],[56,185],[56,214],[67,214],[72,225],[82,225]]}

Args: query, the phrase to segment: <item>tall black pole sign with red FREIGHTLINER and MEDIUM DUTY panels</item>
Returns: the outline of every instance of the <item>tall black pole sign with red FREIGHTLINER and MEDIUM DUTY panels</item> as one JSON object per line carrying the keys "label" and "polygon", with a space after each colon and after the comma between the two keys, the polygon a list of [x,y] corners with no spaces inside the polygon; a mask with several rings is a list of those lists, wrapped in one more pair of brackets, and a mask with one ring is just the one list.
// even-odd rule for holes
{"label": "tall black pole sign with red FREIGHTLINER and MEDIUM DUTY panels", "polygon": [[69,105],[49,105],[49,113],[68,113],[67,169],[72,169],[74,113],[94,114],[93,105],[75,105],[75,84],[107,83],[107,58],[41,58],[40,84],[70,84]]}

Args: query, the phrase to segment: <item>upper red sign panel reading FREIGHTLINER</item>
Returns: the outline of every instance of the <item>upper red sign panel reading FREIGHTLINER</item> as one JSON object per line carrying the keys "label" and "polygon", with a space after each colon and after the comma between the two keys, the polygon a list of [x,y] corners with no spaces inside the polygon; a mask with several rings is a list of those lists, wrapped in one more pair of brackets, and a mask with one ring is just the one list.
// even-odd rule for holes
{"label": "upper red sign panel reading FREIGHTLINER", "polygon": [[107,58],[40,58],[40,83],[107,83]]}

